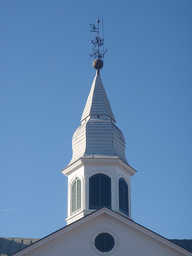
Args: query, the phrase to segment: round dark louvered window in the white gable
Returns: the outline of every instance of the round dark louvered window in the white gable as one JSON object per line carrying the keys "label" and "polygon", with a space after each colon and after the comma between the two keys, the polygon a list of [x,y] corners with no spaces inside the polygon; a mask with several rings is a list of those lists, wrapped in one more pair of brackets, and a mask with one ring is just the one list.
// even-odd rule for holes
{"label": "round dark louvered window in the white gable", "polygon": [[100,252],[107,253],[113,249],[114,245],[114,238],[109,233],[100,233],[98,236],[96,236],[95,247]]}

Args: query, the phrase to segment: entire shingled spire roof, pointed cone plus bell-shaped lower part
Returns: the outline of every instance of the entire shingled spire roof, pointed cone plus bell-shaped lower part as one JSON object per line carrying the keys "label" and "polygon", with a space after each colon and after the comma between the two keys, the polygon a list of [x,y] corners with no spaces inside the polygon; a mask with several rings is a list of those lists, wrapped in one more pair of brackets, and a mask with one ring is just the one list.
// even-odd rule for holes
{"label": "entire shingled spire roof, pointed cone plus bell-shaped lower part", "polygon": [[70,164],[80,158],[116,158],[128,164],[125,157],[125,139],[115,122],[97,69],[81,117],[81,125],[73,134],[73,157]]}

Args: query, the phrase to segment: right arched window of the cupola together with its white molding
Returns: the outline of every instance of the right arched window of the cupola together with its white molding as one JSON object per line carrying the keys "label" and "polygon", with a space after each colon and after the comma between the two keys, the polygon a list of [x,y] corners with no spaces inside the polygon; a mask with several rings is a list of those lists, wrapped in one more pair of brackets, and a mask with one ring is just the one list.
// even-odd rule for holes
{"label": "right arched window of the cupola together with its white molding", "polygon": [[130,216],[130,183],[124,177],[124,175],[119,175],[117,177],[118,186],[118,208],[119,212]]}

